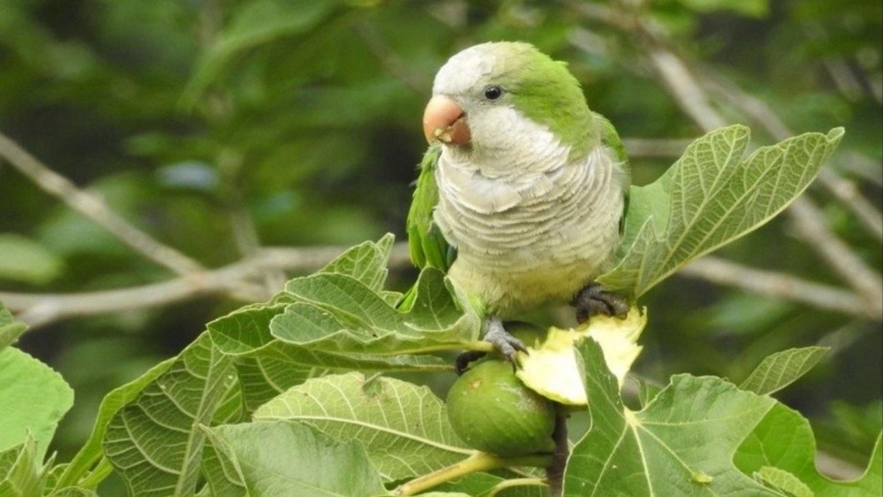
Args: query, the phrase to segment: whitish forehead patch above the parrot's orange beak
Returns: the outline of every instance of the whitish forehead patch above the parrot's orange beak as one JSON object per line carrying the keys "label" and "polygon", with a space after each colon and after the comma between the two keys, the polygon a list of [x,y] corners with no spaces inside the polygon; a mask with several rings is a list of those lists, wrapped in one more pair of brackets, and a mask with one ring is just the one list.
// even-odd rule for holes
{"label": "whitish forehead patch above the parrot's orange beak", "polygon": [[470,46],[448,59],[435,75],[432,93],[458,95],[488,80],[498,66],[498,51],[494,45]]}

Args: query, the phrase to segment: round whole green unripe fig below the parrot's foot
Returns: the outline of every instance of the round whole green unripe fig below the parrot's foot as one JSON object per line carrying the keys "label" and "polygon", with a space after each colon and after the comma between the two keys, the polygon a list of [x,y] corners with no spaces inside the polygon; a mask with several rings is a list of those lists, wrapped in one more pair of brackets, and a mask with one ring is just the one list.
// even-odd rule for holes
{"label": "round whole green unripe fig below the parrot's foot", "polygon": [[473,449],[518,456],[555,447],[553,402],[515,378],[509,362],[474,364],[452,385],[447,406],[453,430]]}

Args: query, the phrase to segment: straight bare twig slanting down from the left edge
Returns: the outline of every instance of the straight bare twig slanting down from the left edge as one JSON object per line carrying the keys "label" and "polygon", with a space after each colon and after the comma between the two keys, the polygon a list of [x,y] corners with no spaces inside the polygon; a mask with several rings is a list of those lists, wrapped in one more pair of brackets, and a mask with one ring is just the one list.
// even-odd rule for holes
{"label": "straight bare twig slanting down from the left edge", "polygon": [[194,259],[173,249],[151,237],[147,232],[129,223],[97,195],[77,188],[74,183],[46,167],[36,157],[19,147],[9,137],[0,133],[0,157],[29,177],[46,193],[65,202],[80,214],[91,219],[98,226],[107,229],[110,234],[119,238],[137,253],[150,259],[160,266],[170,269],[178,275],[187,275],[202,270],[202,266]]}

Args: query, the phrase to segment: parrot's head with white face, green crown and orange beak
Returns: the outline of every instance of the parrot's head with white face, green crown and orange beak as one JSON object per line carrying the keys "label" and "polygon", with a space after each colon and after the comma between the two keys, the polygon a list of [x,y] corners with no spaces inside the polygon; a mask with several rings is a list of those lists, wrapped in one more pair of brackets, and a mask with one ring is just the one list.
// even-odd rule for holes
{"label": "parrot's head with white face, green crown and orange beak", "polygon": [[579,82],[522,42],[472,46],[452,56],[435,76],[423,113],[430,143],[465,149],[504,149],[525,120],[568,147],[591,147],[592,113]]}

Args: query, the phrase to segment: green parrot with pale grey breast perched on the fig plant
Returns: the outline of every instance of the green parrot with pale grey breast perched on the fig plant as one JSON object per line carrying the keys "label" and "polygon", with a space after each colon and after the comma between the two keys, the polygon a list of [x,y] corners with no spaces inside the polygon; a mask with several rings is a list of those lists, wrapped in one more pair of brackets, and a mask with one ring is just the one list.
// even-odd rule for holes
{"label": "green parrot with pale grey breast perched on the fig plant", "polygon": [[514,365],[524,345],[502,320],[563,302],[581,321],[627,313],[594,279],[620,243],[628,162],[563,63],[521,42],[467,48],[435,76],[423,132],[411,259],[465,291],[484,340]]}

